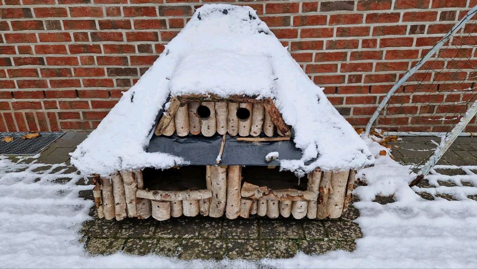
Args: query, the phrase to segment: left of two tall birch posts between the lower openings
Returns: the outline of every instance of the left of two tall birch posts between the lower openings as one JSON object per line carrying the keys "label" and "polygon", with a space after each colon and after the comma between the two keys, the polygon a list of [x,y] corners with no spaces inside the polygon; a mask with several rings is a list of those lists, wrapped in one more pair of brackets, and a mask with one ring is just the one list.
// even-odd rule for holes
{"label": "left of two tall birch posts between the lower openings", "polygon": [[224,214],[227,203],[227,166],[211,166],[210,176],[212,197],[209,216],[218,218]]}

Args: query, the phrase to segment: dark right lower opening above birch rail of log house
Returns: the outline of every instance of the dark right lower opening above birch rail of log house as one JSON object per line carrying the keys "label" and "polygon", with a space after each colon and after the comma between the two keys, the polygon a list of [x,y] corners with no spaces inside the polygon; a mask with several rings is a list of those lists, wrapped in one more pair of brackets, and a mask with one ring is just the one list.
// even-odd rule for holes
{"label": "dark right lower opening above birch rail of log house", "polygon": [[243,181],[258,186],[267,186],[270,189],[298,189],[307,190],[308,178],[298,179],[293,172],[280,169],[270,169],[266,166],[245,166],[242,168]]}

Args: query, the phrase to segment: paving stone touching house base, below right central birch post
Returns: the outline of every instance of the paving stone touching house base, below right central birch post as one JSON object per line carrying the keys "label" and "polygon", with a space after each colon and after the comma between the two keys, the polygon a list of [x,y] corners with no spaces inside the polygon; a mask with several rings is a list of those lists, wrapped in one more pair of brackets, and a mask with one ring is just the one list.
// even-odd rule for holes
{"label": "paving stone touching house base, below right central birch post", "polygon": [[258,223],[256,220],[224,219],[224,238],[258,238]]}

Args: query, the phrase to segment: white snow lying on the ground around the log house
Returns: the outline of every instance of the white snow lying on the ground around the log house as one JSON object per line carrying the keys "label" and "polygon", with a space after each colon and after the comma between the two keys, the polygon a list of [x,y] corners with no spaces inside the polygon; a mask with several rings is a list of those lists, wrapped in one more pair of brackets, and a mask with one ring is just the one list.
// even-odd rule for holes
{"label": "white snow lying on the ground around the log house", "polygon": [[[477,194],[477,187],[462,186],[462,181],[477,186],[477,167],[462,168],[467,175],[427,177],[430,183],[448,180],[454,187],[413,187],[415,191],[450,193],[458,201],[420,198],[408,186],[408,170],[389,156],[380,156],[379,144],[364,139],[377,157],[376,166],[360,172],[368,183],[355,194],[360,210],[359,223],[364,237],[356,241],[356,251],[329,252],[322,256],[298,254],[285,260],[259,262],[178,261],[159,256],[136,257],[117,253],[111,256],[88,256],[78,229],[89,217],[92,201],[78,197],[78,191],[91,186],[77,185],[83,180],[77,173],[67,173],[64,164],[46,171],[44,166],[11,162],[0,157],[0,267],[1,268],[476,268],[477,202],[466,195]],[[59,171],[58,171],[59,170]],[[65,184],[58,180],[71,178]],[[435,193],[432,193],[435,192]],[[372,202],[374,195],[394,194],[396,202]]]}

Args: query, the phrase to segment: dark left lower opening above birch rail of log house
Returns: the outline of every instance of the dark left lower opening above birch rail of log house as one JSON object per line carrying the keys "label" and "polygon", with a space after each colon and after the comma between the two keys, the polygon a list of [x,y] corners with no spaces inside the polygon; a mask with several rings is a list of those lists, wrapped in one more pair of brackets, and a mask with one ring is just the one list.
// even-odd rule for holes
{"label": "dark left lower opening above birch rail of log house", "polygon": [[182,166],[159,170],[143,170],[144,188],[150,190],[199,190],[207,189],[205,166]]}

